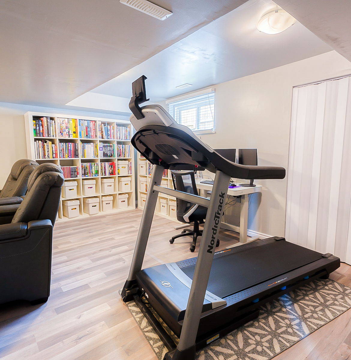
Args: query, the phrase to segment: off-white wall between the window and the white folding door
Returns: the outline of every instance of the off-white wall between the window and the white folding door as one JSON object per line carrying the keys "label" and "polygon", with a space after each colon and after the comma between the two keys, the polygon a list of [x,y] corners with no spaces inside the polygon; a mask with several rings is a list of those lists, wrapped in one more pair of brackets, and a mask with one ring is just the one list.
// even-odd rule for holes
{"label": "off-white wall between the window and the white folding door", "polygon": [[[287,168],[293,86],[350,73],[351,63],[330,51],[216,85],[216,134],[201,139],[213,148],[257,148],[258,165]],[[287,177],[255,183],[262,197],[251,204],[249,229],[283,236]]]}

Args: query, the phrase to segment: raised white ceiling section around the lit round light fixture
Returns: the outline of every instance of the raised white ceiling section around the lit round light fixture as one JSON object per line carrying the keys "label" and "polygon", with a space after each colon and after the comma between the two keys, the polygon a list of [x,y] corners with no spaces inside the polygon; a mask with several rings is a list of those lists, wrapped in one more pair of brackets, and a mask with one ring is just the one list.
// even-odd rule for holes
{"label": "raised white ceiling section around the lit round light fixture", "polygon": [[[276,35],[259,32],[258,19],[275,8],[250,0],[92,92],[130,98],[132,81],[145,75],[147,96],[160,101],[332,50],[298,22]],[[193,86],[176,89],[185,83]]]}

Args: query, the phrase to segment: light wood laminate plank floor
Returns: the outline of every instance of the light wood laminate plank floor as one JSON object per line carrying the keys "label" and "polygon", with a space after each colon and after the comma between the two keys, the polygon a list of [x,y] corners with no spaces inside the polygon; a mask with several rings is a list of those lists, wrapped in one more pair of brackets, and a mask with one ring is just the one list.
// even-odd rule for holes
{"label": "light wood laminate plank floor", "polygon": [[[55,225],[51,295],[44,305],[12,303],[0,309],[0,359],[156,360],[118,289],[127,277],[141,211],[99,215]],[[175,223],[155,216],[144,266],[179,261],[190,237]],[[220,248],[237,241],[221,231]],[[1,275],[0,275],[1,276]],[[351,286],[351,267],[342,264],[332,279]],[[292,346],[274,360],[351,359],[351,311]]]}

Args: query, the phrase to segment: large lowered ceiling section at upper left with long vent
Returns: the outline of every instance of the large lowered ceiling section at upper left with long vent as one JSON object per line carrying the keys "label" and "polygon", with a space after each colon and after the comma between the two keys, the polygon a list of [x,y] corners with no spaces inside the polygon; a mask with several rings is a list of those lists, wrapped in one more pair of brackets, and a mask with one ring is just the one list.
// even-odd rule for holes
{"label": "large lowered ceiling section at upper left with long vent", "polygon": [[159,21],[118,0],[0,1],[0,101],[63,105],[245,0],[154,0]]}

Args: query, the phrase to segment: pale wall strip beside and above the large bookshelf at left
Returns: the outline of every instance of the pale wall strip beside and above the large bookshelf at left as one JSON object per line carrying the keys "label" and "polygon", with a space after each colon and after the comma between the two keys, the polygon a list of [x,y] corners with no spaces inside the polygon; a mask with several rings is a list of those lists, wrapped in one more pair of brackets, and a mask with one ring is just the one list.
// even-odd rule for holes
{"label": "pale wall strip beside and above the large bookshelf at left", "polygon": [[24,114],[27,111],[129,120],[128,116],[69,109],[51,109],[0,102],[0,154],[2,164],[0,172],[0,189],[3,187],[5,180],[9,175],[13,163],[19,159],[27,158],[26,133],[24,127]]}

